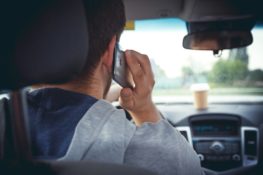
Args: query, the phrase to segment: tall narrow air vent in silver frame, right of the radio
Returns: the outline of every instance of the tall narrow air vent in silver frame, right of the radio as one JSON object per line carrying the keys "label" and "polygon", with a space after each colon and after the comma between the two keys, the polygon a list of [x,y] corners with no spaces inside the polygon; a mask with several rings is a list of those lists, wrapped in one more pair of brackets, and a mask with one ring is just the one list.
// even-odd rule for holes
{"label": "tall narrow air vent in silver frame, right of the radio", "polygon": [[258,129],[254,127],[242,127],[241,130],[243,165],[256,165],[258,162]]}

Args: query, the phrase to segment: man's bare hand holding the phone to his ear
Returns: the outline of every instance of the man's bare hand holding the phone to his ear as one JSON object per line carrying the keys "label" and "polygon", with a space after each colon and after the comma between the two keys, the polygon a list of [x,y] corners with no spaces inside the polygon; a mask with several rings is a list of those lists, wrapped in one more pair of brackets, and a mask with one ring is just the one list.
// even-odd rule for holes
{"label": "man's bare hand holding the phone to his ear", "polygon": [[120,104],[138,126],[144,122],[158,122],[161,117],[152,101],[155,82],[148,56],[135,51],[126,51],[125,56],[135,86],[121,90]]}

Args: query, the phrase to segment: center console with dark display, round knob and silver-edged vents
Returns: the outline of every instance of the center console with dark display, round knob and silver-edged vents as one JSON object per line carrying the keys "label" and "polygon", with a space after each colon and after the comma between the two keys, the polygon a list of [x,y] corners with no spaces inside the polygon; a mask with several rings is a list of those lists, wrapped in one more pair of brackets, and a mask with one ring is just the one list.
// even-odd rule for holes
{"label": "center console with dark display, round knob and silver-edged vents", "polygon": [[224,171],[257,164],[258,130],[243,127],[233,115],[193,116],[190,127],[177,127],[197,152],[203,167]]}

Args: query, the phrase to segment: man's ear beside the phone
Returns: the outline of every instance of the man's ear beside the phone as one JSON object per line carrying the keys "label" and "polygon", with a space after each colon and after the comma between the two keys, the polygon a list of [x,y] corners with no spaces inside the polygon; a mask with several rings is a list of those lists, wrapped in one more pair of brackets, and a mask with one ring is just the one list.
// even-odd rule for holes
{"label": "man's ear beside the phone", "polygon": [[106,51],[104,52],[102,56],[102,63],[110,68],[113,62],[113,54],[114,54],[115,45],[116,45],[116,35],[112,37]]}

